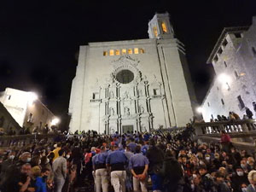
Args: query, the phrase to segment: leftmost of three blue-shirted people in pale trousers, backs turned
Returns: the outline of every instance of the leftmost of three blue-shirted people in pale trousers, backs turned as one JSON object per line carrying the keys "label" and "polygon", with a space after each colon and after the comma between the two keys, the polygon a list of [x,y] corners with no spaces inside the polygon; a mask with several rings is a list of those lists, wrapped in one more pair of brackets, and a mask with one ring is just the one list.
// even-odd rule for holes
{"label": "leftmost of three blue-shirted people in pale trousers, backs turned", "polygon": [[108,192],[108,171],[106,160],[108,153],[106,148],[102,146],[100,154],[92,157],[92,167],[96,179],[96,192]]}

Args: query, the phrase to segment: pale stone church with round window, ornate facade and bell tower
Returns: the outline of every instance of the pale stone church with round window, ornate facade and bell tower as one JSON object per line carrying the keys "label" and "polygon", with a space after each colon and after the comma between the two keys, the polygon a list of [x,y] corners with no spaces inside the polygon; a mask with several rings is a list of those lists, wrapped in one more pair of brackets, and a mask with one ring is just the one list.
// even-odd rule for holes
{"label": "pale stone church with round window, ornate facade and bell tower", "polygon": [[195,92],[167,13],[154,15],[148,35],[80,46],[71,131],[150,131],[182,127],[192,119]]}

